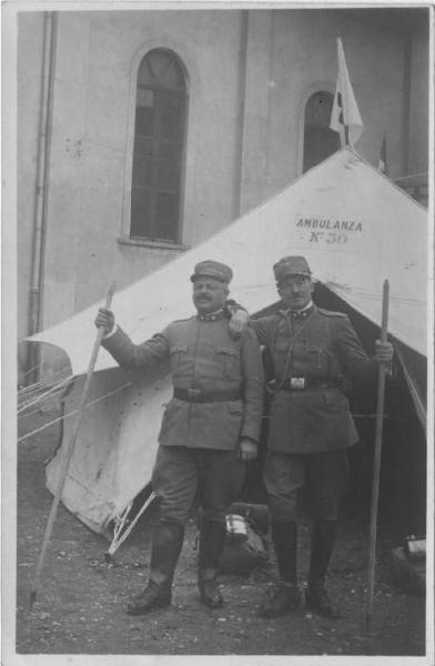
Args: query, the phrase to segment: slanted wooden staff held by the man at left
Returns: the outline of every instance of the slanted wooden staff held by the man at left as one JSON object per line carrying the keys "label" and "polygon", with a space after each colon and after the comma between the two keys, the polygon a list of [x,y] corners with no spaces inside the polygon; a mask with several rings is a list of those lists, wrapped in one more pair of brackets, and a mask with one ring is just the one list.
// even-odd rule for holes
{"label": "slanted wooden staff held by the man at left", "polygon": [[[111,284],[108,291],[108,295],[105,297],[105,307],[108,310],[110,310],[111,303],[112,303],[112,297],[113,297],[113,293],[114,293],[114,284]],[[49,518],[47,521],[47,526],[45,526],[45,532],[43,535],[43,542],[42,542],[42,547],[41,547],[41,553],[39,555],[39,561],[38,561],[38,566],[37,566],[37,571],[36,571],[36,575],[34,575],[34,581],[33,581],[33,587],[31,589],[30,593],[30,601],[29,601],[29,607],[31,608],[33,603],[37,601],[37,593],[39,589],[39,584],[40,584],[40,578],[41,578],[41,571],[42,571],[42,565],[43,565],[43,559],[45,556],[45,552],[51,538],[51,533],[53,529],[53,525],[54,525],[54,519],[55,519],[55,514],[58,511],[58,506],[59,506],[59,502],[60,498],[62,496],[62,491],[63,491],[63,486],[64,483],[67,481],[67,474],[68,474],[68,468],[71,462],[71,457],[74,451],[74,446],[75,446],[75,442],[79,435],[79,430],[80,430],[80,425],[83,418],[83,414],[84,414],[84,410],[87,406],[87,401],[88,401],[88,394],[89,394],[89,389],[91,386],[91,381],[92,381],[92,375],[93,375],[93,370],[95,366],[95,362],[97,362],[97,356],[98,356],[98,352],[100,349],[100,344],[101,344],[101,340],[104,335],[104,329],[102,326],[99,327],[98,333],[97,333],[97,337],[95,337],[95,342],[93,343],[93,350],[92,350],[92,354],[91,354],[91,360],[89,362],[89,367],[88,367],[88,373],[87,373],[87,379],[84,382],[84,387],[83,387],[83,393],[81,396],[81,401],[80,401],[80,405],[79,405],[79,414],[74,424],[74,430],[71,436],[71,440],[68,444],[65,454],[64,454],[64,458],[62,461],[62,465],[60,468],[60,473],[59,473],[59,480],[58,480],[58,485],[55,488],[55,493],[54,493],[54,498],[51,505],[51,509],[50,509],[50,515]]]}

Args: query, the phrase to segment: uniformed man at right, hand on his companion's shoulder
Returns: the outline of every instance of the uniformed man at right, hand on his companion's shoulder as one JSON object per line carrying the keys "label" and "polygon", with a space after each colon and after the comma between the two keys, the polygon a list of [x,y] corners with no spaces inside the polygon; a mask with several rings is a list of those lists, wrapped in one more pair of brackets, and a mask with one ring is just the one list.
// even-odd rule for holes
{"label": "uniformed man at right, hand on his companion's shoulder", "polygon": [[[274,379],[264,481],[280,582],[263,598],[260,614],[274,617],[300,606],[296,495],[307,478],[313,528],[305,605],[338,617],[325,576],[346,485],[347,448],[357,441],[343,381],[374,375],[380,362],[391,362],[393,347],[377,341],[375,357],[367,357],[347,316],[312,302],[311,270],[303,256],[286,256],[273,270],[282,309],[251,321]],[[246,319],[236,310],[232,325],[243,330]]]}

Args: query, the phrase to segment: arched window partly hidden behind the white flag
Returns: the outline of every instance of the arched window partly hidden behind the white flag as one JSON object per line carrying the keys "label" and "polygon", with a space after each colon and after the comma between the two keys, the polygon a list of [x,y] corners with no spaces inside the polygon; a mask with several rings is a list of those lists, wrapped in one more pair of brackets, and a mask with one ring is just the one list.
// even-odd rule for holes
{"label": "arched window partly hidden behind the white flag", "polygon": [[340,148],[337,132],[330,129],[334,98],[331,92],[320,90],[311,95],[305,105],[304,163],[307,171],[332,155]]}

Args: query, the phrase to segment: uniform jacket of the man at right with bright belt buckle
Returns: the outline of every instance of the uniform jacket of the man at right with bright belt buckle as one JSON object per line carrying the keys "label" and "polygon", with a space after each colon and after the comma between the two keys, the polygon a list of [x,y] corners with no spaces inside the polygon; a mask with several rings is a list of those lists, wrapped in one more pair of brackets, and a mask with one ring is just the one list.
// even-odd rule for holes
{"label": "uniform jacket of the man at right with bright belt buckle", "polygon": [[[301,319],[280,311],[253,320],[252,326],[267,347],[276,382],[270,451],[308,454],[355,444],[357,433],[340,377],[357,381],[375,372],[377,362],[365,354],[347,316],[314,305]],[[290,377],[312,380],[317,387],[284,390]]]}

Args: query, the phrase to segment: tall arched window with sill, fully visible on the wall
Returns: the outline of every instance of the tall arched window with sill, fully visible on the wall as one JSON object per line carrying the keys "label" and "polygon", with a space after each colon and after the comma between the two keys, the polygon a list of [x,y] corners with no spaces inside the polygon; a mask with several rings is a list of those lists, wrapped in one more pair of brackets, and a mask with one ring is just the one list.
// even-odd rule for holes
{"label": "tall arched window with sill, fully visible on the wall", "polygon": [[153,49],[138,71],[130,236],[180,242],[186,84],[178,57]]}

